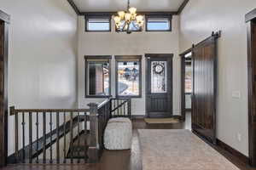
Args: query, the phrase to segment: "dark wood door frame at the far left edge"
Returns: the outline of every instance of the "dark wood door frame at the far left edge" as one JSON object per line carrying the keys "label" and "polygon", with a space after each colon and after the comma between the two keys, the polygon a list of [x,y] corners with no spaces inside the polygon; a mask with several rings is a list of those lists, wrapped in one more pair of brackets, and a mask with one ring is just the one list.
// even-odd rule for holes
{"label": "dark wood door frame at the far left edge", "polygon": [[[0,167],[6,166],[8,156],[8,45],[10,15],[0,10],[0,22],[3,22],[3,113],[0,112]],[[0,40],[1,41],[1,40]]]}

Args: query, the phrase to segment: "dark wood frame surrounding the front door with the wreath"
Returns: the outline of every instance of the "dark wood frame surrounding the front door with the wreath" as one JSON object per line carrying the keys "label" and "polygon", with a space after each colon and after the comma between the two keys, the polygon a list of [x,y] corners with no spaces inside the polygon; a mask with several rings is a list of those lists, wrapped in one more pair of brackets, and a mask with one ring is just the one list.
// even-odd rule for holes
{"label": "dark wood frame surrounding the front door with the wreath", "polygon": [[[149,114],[148,114],[148,58],[165,58],[165,59],[171,59],[171,65],[173,63],[172,59],[173,59],[173,55],[174,54],[145,54],[145,78],[146,78],[146,88],[145,88],[145,98],[146,98],[146,116],[149,117]],[[170,76],[170,81],[171,81],[171,84],[170,84],[170,88],[169,89],[169,92],[170,94],[172,94],[170,96],[170,101],[172,103],[171,105],[171,108],[170,108],[170,115],[172,116],[172,108],[173,108],[173,66],[172,68],[170,69],[171,71],[171,76]]]}

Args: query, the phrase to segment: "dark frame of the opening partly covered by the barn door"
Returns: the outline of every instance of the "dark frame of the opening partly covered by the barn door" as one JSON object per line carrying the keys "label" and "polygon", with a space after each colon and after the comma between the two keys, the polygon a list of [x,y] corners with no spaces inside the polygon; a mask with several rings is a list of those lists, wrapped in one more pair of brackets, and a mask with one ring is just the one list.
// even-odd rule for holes
{"label": "dark frame of the opening partly covered by the barn door", "polygon": [[[186,72],[186,62],[185,55],[192,52],[192,48],[179,54],[181,57],[181,121],[186,121],[186,94],[185,94],[185,72]],[[192,58],[193,56],[191,56]],[[192,62],[192,61],[191,61]],[[191,65],[193,66],[193,65]],[[192,104],[192,102],[191,102]]]}

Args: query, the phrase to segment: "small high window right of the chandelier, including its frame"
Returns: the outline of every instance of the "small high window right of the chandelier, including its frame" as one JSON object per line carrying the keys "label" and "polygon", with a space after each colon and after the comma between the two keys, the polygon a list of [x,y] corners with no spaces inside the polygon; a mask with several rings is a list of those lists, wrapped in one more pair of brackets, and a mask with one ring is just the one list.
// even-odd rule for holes
{"label": "small high window right of the chandelier, including its frame", "polygon": [[146,31],[172,31],[172,15],[146,15]]}

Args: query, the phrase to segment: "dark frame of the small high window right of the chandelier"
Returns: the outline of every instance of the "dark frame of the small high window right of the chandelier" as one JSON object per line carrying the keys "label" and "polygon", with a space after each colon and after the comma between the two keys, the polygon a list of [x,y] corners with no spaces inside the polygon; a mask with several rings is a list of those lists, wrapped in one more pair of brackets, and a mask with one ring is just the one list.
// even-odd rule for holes
{"label": "dark frame of the small high window right of the chandelier", "polygon": [[[168,30],[148,30],[148,19],[168,19],[170,26]],[[172,14],[146,14],[145,15],[145,31],[172,31]]]}

